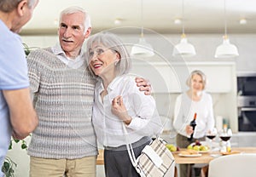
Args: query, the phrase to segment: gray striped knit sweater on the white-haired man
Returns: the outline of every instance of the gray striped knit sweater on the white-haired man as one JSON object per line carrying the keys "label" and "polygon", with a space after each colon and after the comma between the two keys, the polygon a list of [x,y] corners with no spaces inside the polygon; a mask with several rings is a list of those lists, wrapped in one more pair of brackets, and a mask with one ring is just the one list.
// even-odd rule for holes
{"label": "gray striped knit sweater on the white-haired man", "polygon": [[88,68],[66,66],[50,48],[33,51],[27,63],[39,117],[28,154],[56,159],[95,156],[91,123],[95,80]]}

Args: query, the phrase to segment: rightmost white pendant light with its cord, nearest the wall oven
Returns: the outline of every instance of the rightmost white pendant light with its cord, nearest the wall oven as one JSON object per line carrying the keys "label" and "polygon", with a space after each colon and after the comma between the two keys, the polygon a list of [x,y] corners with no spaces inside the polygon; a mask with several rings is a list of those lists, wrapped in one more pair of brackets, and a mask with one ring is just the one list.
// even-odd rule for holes
{"label": "rightmost white pendant light with its cord, nearest the wall oven", "polygon": [[230,39],[227,35],[226,1],[224,0],[224,37],[223,43],[216,49],[215,58],[231,58],[238,55],[236,45],[230,43]]}

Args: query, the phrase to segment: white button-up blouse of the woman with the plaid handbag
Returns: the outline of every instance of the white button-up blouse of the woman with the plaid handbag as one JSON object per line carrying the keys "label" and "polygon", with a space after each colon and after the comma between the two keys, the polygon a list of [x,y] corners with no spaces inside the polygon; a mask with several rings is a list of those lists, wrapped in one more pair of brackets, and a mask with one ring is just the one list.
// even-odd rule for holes
{"label": "white button-up blouse of the woman with the plaid handbag", "polygon": [[108,94],[103,98],[102,82],[96,83],[95,104],[93,106],[92,123],[97,139],[102,146],[121,146],[127,142],[123,129],[123,121],[111,112],[112,100],[121,95],[131,123],[126,126],[129,143],[136,142],[143,136],[160,134],[162,124],[152,96],[139,91],[134,78],[119,76],[108,85]]}

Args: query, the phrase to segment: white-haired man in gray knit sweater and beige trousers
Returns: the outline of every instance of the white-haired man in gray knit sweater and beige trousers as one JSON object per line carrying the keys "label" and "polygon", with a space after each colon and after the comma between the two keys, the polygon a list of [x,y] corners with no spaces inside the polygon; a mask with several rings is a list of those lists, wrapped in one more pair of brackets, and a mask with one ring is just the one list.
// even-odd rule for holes
{"label": "white-haired man in gray knit sweater and beige trousers", "polygon": [[96,81],[81,49],[90,31],[84,9],[64,9],[59,42],[27,58],[39,117],[28,148],[31,177],[96,176],[96,134],[91,123]]}

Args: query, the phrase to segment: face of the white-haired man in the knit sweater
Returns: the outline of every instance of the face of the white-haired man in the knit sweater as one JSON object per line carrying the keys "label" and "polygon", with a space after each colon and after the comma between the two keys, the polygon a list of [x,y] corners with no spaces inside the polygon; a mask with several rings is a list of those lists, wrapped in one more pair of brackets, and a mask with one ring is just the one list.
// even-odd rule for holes
{"label": "face of the white-haired man in the knit sweater", "polygon": [[70,58],[79,55],[84,39],[90,35],[90,28],[84,32],[84,18],[82,12],[62,15],[58,31],[59,40],[61,48]]}

